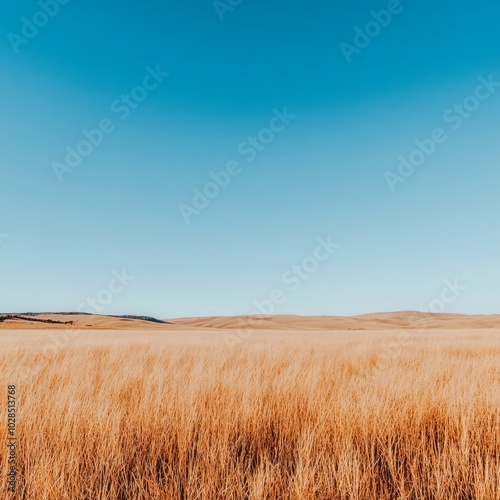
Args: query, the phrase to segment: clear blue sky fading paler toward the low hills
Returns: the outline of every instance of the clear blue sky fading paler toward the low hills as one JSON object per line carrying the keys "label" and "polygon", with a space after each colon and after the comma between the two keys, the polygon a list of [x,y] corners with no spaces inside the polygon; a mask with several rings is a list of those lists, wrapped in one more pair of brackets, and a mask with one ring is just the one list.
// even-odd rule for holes
{"label": "clear blue sky fading paler toward the low hills", "polygon": [[[0,310],[75,310],[126,270],[103,313],[248,314],[273,290],[277,314],[415,310],[455,279],[446,312],[498,313],[500,88],[470,99],[500,82],[498,3],[218,5],[223,20],[210,1],[71,0],[46,23],[38,2],[3,6]],[[148,67],[169,76],[122,120],[112,105]],[[239,146],[284,110],[248,162]],[[113,132],[59,182],[54,162],[105,119]],[[446,141],[401,177],[435,129]],[[232,161],[187,224],[180,207]],[[328,236],[340,247],[291,289],[285,273]]]}

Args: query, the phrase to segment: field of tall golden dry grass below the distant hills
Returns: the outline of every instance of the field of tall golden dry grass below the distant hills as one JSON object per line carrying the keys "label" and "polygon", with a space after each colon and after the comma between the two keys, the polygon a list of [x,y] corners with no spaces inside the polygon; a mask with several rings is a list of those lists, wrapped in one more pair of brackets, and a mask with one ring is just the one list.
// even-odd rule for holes
{"label": "field of tall golden dry grass below the distant hills", "polygon": [[400,334],[0,332],[12,498],[500,499],[500,331]]}

